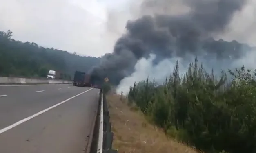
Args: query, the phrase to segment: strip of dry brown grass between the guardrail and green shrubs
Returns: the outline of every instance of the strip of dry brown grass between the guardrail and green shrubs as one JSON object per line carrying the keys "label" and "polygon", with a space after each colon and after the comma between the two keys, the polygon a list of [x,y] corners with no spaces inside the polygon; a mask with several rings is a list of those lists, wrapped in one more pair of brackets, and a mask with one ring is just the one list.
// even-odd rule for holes
{"label": "strip of dry brown grass between the guardrail and green shrubs", "polygon": [[149,124],[136,107],[128,107],[118,95],[108,95],[109,115],[114,132],[113,149],[118,153],[198,153],[171,140],[162,130]]}

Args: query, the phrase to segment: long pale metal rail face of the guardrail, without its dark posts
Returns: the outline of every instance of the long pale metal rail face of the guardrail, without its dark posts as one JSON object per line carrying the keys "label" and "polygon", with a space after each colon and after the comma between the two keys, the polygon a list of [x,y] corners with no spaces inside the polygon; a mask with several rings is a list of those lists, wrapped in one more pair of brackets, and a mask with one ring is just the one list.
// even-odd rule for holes
{"label": "long pale metal rail face of the guardrail, without its dark posts", "polygon": [[102,94],[102,91],[101,91],[100,128],[99,128],[97,153],[102,153],[103,152],[102,147],[103,147],[103,94]]}

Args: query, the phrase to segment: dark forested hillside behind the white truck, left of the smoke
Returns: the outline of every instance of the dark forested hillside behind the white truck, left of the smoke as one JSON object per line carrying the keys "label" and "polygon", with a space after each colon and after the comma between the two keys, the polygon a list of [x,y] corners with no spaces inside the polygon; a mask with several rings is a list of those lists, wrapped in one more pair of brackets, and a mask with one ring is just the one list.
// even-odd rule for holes
{"label": "dark forested hillside behind the white truck, left of the smoke", "polygon": [[34,42],[16,41],[12,35],[11,31],[0,31],[0,76],[45,77],[49,70],[59,70],[69,79],[74,71],[87,72],[100,61],[100,57],[83,57]]}

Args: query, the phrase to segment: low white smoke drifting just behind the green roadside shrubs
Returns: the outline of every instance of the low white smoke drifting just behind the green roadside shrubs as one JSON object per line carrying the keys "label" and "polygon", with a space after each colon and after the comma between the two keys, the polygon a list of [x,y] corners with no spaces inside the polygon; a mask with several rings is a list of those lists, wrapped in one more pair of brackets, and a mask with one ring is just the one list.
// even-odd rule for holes
{"label": "low white smoke drifting just behind the green roadside shrubs", "polygon": [[[140,59],[135,66],[135,72],[131,74],[129,77],[125,77],[120,81],[120,84],[116,88],[116,92],[118,94],[127,95],[129,93],[129,87],[134,85],[134,82],[139,82],[149,78],[149,80],[153,81],[155,80],[156,83],[161,84],[165,81],[167,77],[170,76],[170,74],[173,72],[174,67],[176,65],[176,61],[178,61],[179,66],[179,74],[185,74],[187,72],[187,68],[189,67],[190,62],[194,62],[194,59],[196,58],[193,55],[187,55],[187,58],[180,59],[180,58],[171,58],[171,59],[165,59],[163,61],[160,61],[157,65],[153,64],[154,59],[156,58],[156,55],[151,54],[150,58]],[[250,70],[256,69],[256,50],[253,50],[251,52],[247,52],[246,55],[238,59],[236,61],[232,61],[232,63],[225,64],[229,61],[219,61],[216,63],[216,59],[212,59],[209,61],[206,61],[204,57],[197,57],[198,58],[198,64],[203,64],[205,70],[209,72],[212,68],[214,69],[214,72],[216,74],[220,74],[220,70],[227,70],[229,69],[226,67],[230,67],[230,69],[234,70],[234,68],[240,68],[243,65],[245,68]],[[218,77],[218,76],[217,76]]]}

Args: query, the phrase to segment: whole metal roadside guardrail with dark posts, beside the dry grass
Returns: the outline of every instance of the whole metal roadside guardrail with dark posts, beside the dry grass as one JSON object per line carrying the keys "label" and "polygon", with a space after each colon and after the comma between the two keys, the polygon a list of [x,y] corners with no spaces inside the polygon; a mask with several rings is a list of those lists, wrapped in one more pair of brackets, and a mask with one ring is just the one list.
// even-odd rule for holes
{"label": "whole metal roadside guardrail with dark posts, beside the dry grass", "polygon": [[100,90],[100,123],[98,131],[97,153],[117,153],[117,150],[112,149],[114,133],[111,132],[111,123],[109,122],[109,111],[107,107],[106,96],[103,90]]}

